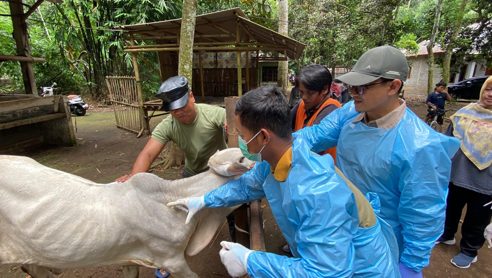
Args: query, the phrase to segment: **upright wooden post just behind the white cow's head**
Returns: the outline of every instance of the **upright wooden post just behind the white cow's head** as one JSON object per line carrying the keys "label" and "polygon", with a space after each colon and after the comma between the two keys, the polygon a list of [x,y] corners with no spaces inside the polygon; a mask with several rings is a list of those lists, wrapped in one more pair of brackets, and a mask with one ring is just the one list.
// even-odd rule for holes
{"label": "upright wooden post just behind the white cow's head", "polygon": [[[236,122],[234,121],[234,108],[236,107],[238,100],[239,97],[224,98],[225,119],[227,121],[227,138],[228,146],[230,148],[239,147],[238,132],[236,131]],[[249,231],[246,205],[243,205],[234,211],[234,218],[236,227],[244,231]],[[246,246],[246,248],[249,248],[249,234],[240,232],[236,229],[236,241],[237,243]]]}

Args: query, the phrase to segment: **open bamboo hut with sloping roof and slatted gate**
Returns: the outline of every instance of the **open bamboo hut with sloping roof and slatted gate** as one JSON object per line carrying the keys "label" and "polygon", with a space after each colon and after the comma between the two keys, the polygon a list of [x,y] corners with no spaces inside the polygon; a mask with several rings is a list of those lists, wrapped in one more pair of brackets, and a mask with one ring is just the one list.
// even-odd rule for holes
{"label": "open bamboo hut with sloping roof and slatted gate", "polygon": [[[119,85],[123,81],[117,80],[118,77],[112,77],[110,81],[107,80],[108,87],[117,115],[117,126],[142,134],[150,132],[149,119],[154,115],[149,116],[149,111],[162,111],[162,105],[157,101],[143,103],[137,59],[141,59],[150,67],[162,82],[177,75],[181,18],[125,25],[120,29],[127,39],[123,51],[132,54],[135,76],[129,83],[126,80],[128,77],[122,78],[125,79],[124,85]],[[144,45],[141,43],[144,40],[146,43],[153,40],[154,44]],[[305,44],[299,41],[250,21],[240,8],[198,15],[193,42],[191,90],[195,96],[201,95],[202,101],[205,101],[206,96],[240,97],[244,93],[242,86],[239,85],[235,89],[235,84],[242,76],[246,77],[246,90],[256,88],[262,81],[262,74],[258,70],[260,62],[298,59],[304,47]],[[285,58],[261,58],[260,51],[267,50],[284,54]],[[158,70],[145,60],[140,54],[142,52],[157,52]],[[241,84],[241,81],[238,83]],[[132,87],[128,92],[136,91],[138,102],[130,104],[124,101],[126,92],[121,90],[127,90],[128,86]],[[113,97],[118,95],[123,98]],[[124,107],[125,104],[130,104],[129,107],[132,108],[138,107],[139,110],[133,112],[133,118],[126,117],[131,118],[136,124],[130,124],[128,121],[123,123],[122,116],[122,121],[119,121],[118,111],[127,109]],[[136,117],[140,117],[140,120],[135,121]]]}

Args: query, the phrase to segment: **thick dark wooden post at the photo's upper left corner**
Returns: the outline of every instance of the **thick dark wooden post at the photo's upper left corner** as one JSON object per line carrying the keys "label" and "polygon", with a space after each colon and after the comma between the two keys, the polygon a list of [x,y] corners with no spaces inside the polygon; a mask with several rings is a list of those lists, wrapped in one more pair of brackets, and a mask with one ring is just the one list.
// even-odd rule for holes
{"label": "thick dark wooden post at the photo's upper left corner", "polygon": [[[10,14],[12,19],[12,35],[15,39],[17,54],[20,56],[31,56],[31,46],[29,45],[28,30],[22,0],[10,0]],[[37,94],[36,79],[34,78],[34,67],[32,62],[20,62],[22,80],[26,94]]]}

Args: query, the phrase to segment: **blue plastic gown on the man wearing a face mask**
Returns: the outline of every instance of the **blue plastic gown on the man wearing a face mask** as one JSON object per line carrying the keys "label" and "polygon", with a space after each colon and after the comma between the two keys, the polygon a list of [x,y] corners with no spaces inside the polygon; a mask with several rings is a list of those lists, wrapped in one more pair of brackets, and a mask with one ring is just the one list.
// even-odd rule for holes
{"label": "blue plastic gown on the man wearing a face mask", "polygon": [[381,224],[358,227],[355,197],[335,173],[333,159],[309,148],[302,140],[294,142],[292,169],[285,182],[277,181],[270,165],[262,162],[205,195],[207,207],[268,198],[295,258],[252,252],[247,259],[248,274],[253,278],[400,278]]}

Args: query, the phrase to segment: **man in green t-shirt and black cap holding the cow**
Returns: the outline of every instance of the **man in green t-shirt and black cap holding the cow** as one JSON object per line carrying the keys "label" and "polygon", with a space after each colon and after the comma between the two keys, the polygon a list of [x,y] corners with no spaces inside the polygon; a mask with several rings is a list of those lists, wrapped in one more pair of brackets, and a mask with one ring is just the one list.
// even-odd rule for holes
{"label": "man in green t-shirt and black cap holding the cow", "polygon": [[[167,142],[175,142],[184,152],[182,177],[190,177],[209,170],[209,158],[217,151],[227,148],[224,141],[225,109],[208,104],[195,104],[193,93],[184,76],[174,76],[162,83],[155,95],[162,100],[168,116],[155,127],[152,138],[137,157],[131,174],[116,179],[124,182],[137,173],[149,172],[157,156]],[[229,232],[235,241],[234,214],[227,216]],[[160,274],[160,275],[159,275]],[[167,277],[165,271],[156,271],[159,278]]]}

